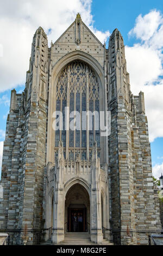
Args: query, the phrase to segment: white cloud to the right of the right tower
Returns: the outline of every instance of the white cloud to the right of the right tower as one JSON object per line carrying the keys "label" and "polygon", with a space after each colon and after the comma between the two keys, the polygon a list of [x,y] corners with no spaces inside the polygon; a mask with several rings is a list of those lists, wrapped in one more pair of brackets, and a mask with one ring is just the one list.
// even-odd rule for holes
{"label": "white cloud to the right of the right tower", "polygon": [[141,42],[133,47],[126,46],[127,69],[130,73],[131,91],[137,95],[145,93],[149,140],[163,137],[163,16],[152,10],[136,19],[135,27],[129,32]]}

